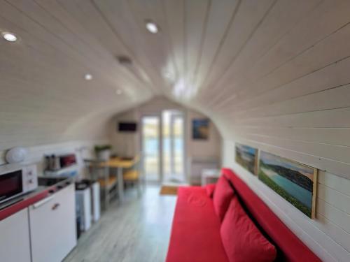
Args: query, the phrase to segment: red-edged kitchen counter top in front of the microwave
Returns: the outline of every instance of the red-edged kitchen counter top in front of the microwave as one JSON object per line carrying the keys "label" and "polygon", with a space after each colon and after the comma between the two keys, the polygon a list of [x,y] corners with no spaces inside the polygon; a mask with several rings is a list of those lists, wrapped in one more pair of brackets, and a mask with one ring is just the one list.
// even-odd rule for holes
{"label": "red-edged kitchen counter top in front of the microwave", "polygon": [[0,221],[73,183],[71,178],[38,177],[38,188],[0,204]]}

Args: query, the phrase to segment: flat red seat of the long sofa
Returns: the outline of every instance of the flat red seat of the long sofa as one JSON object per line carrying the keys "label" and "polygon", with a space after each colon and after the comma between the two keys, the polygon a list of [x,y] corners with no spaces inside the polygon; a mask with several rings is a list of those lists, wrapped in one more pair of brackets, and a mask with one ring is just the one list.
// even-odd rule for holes
{"label": "flat red seat of the long sofa", "polygon": [[167,262],[228,262],[204,187],[179,187]]}

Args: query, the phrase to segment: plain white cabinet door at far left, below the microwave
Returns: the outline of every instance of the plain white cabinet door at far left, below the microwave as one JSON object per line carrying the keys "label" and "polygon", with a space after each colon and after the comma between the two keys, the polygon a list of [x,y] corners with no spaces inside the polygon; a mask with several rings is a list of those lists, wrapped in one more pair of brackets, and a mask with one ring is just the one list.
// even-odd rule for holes
{"label": "plain white cabinet door at far left, below the microwave", "polygon": [[0,261],[30,262],[27,208],[0,221]]}

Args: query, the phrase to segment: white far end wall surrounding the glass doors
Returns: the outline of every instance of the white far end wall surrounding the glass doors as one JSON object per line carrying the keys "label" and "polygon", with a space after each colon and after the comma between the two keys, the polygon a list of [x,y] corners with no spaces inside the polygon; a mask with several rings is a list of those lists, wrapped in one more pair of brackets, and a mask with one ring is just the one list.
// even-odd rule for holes
{"label": "white far end wall surrounding the glass doors", "polygon": [[[192,120],[196,118],[207,118],[206,115],[201,114],[195,110],[183,107],[179,103],[170,101],[169,99],[158,96],[146,103],[143,103],[132,110],[119,113],[116,117],[111,119],[109,125],[110,136],[109,139],[113,145],[113,152],[118,155],[132,157],[138,154],[141,150],[141,118],[145,115],[162,116],[163,110],[179,110],[183,112],[186,119],[185,136],[185,150],[186,150],[186,175],[192,175],[193,161],[209,161],[221,163],[221,148],[222,138],[216,125],[212,122],[209,124],[209,138],[208,140],[193,140],[192,138]],[[134,121],[139,124],[137,133],[120,133],[116,131],[118,122]],[[194,177],[196,178],[196,177]],[[198,178],[198,177],[197,177]],[[193,177],[188,177],[189,181],[193,181]],[[195,181],[200,182],[200,181]]]}

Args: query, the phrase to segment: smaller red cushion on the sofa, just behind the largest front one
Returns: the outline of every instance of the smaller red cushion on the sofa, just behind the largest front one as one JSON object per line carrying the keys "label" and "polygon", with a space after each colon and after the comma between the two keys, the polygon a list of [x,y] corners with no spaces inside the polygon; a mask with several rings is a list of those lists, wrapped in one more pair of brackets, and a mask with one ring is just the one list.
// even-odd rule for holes
{"label": "smaller red cushion on the sofa, just behind the largest front one", "polygon": [[220,221],[223,221],[225,212],[228,210],[228,206],[230,205],[234,194],[235,192],[230,186],[227,178],[221,175],[221,177],[218,179],[218,182],[216,183],[213,197],[214,209]]}

